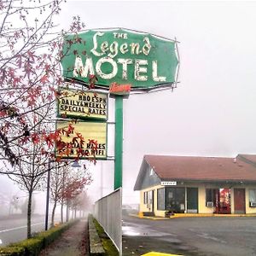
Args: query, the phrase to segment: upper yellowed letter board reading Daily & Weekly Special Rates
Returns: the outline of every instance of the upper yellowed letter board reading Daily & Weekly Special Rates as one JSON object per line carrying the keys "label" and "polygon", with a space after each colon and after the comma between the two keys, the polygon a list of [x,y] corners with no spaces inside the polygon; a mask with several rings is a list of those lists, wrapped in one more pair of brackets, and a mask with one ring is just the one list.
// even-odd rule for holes
{"label": "upper yellowed letter board reading Daily & Weekly Special Rates", "polygon": [[61,89],[58,116],[79,119],[108,119],[108,95],[82,90]]}

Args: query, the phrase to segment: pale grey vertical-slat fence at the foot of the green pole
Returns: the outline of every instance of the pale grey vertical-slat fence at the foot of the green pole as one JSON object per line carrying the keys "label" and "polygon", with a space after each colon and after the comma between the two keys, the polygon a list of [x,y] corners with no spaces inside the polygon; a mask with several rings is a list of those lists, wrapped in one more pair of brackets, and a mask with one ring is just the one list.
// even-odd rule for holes
{"label": "pale grey vertical-slat fence at the foot of the green pole", "polygon": [[96,201],[94,215],[122,255],[122,189]]}

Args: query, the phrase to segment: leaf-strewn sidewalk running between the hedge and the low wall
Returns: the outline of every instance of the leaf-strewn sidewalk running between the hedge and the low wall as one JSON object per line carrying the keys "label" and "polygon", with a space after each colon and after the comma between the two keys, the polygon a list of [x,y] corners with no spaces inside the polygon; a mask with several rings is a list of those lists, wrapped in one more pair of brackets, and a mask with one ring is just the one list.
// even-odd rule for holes
{"label": "leaf-strewn sidewalk running between the hedge and the low wall", "polygon": [[40,256],[79,256],[89,255],[88,223],[81,219],[70,229],[64,231],[60,238],[45,248]]}

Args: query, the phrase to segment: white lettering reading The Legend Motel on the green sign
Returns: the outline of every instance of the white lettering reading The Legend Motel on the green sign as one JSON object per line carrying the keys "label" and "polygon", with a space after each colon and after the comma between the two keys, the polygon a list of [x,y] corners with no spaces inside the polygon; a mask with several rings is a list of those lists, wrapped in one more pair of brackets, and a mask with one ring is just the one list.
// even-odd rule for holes
{"label": "white lettering reading The Legend Motel on the green sign", "polygon": [[[166,77],[159,75],[159,63],[157,60],[148,61],[142,59],[142,55],[148,56],[152,48],[148,37],[143,38],[143,44],[137,42],[119,44],[117,41],[113,41],[112,43],[104,41],[102,44],[99,44],[98,38],[103,37],[104,34],[104,32],[95,33],[93,36],[93,48],[90,49],[93,55],[101,58],[96,63],[93,63],[92,58],[87,55],[83,63],[81,56],[77,55],[73,69],[74,77],[80,75],[82,78],[86,78],[89,75],[96,74],[102,79],[114,79],[120,68],[122,70],[122,79],[127,80],[128,67],[132,67],[134,70],[134,79],[137,81],[148,81],[150,77],[154,82],[166,82]],[[113,38],[122,38],[125,40],[128,38],[128,35],[127,33],[113,32]],[[125,58],[125,54],[134,55],[137,58]],[[124,55],[124,57],[113,60],[117,55]],[[111,67],[111,71],[108,73],[102,72],[102,65],[105,63],[108,63]],[[148,73],[149,67],[151,73]]]}

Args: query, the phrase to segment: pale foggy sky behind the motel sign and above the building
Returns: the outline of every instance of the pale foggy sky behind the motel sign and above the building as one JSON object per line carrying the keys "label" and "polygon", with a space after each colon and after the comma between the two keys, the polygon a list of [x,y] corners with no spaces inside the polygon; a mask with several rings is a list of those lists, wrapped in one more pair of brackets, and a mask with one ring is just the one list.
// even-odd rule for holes
{"label": "pale foggy sky behind the motel sign and above the building", "polygon": [[[256,153],[256,3],[67,1],[67,26],[125,27],[177,38],[179,84],[124,102],[124,202],[144,154],[228,156]],[[101,168],[103,181],[101,182]],[[95,168],[94,196],[113,190],[113,162]],[[95,190],[93,190],[95,189]]]}

